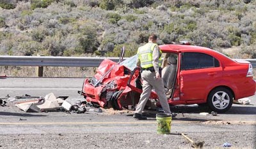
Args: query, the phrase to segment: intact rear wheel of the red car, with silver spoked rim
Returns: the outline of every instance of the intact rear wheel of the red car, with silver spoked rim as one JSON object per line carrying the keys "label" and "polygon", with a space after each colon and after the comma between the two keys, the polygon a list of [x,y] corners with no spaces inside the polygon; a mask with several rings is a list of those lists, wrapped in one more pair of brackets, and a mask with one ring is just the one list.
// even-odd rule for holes
{"label": "intact rear wheel of the red car, with silver spoked rim", "polygon": [[212,90],[207,98],[207,104],[212,111],[223,113],[228,111],[233,103],[234,95],[224,87]]}

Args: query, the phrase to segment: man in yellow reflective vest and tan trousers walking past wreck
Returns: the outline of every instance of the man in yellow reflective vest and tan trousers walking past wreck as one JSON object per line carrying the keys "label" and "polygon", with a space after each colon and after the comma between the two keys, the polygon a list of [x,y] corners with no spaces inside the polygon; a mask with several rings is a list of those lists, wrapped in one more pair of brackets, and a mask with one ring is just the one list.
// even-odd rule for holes
{"label": "man in yellow reflective vest and tan trousers walking past wreck", "polygon": [[143,92],[140,101],[136,106],[133,117],[139,120],[147,120],[142,111],[147,103],[152,88],[156,90],[164,113],[171,113],[164,91],[163,79],[161,78],[161,50],[156,43],[156,34],[148,37],[148,43],[138,48],[138,66],[141,66],[141,78],[143,80]]}

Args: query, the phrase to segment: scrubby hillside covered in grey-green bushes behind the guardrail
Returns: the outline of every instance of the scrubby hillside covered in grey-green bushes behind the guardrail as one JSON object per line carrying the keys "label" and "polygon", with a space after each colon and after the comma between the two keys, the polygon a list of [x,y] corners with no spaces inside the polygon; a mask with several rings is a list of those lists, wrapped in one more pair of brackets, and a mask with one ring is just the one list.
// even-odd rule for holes
{"label": "scrubby hillside covered in grey-green bushes behind the guardrail", "polygon": [[255,0],[1,0],[0,55],[125,57],[147,42],[189,41],[256,58]]}

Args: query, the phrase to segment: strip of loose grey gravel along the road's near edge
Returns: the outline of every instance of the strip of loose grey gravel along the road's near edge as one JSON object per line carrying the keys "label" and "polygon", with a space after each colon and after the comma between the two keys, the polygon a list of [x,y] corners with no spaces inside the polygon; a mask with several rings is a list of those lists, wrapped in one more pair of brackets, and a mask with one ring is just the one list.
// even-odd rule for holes
{"label": "strip of loose grey gravel along the road's near edge", "polygon": [[[189,132],[195,142],[205,141],[204,148],[256,148],[254,132]],[[11,134],[1,135],[1,148],[191,148],[191,143],[180,133],[86,133],[75,134]]]}

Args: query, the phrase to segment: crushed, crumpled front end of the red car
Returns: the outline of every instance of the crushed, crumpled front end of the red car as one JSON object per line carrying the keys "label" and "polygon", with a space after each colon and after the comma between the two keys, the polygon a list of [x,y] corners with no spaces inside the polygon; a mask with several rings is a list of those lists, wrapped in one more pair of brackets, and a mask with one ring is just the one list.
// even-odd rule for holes
{"label": "crushed, crumpled front end of the red car", "polygon": [[[121,63],[104,59],[95,76],[84,80],[81,95],[96,107],[112,107],[115,110],[122,110],[128,105],[135,107],[142,92],[137,59],[137,55]],[[157,99],[156,93],[152,92],[150,99]]]}

